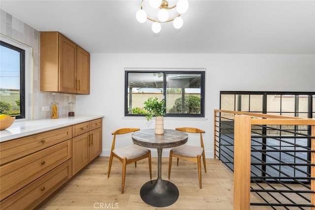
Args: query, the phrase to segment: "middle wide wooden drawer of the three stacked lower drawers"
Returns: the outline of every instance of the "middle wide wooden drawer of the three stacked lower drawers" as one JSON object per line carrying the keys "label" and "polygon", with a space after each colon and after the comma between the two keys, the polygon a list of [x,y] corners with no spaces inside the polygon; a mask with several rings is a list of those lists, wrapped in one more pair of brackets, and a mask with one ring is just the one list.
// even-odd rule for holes
{"label": "middle wide wooden drawer of the three stacked lower drawers", "polygon": [[0,200],[70,159],[71,149],[70,139],[1,166]]}

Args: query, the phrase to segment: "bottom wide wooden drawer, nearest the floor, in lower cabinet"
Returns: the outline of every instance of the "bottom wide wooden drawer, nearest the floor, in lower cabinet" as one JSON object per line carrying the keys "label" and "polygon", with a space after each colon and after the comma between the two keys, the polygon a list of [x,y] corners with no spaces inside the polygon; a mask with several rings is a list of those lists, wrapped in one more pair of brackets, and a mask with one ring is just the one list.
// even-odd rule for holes
{"label": "bottom wide wooden drawer, nearest the floor, in lower cabinet", "polygon": [[1,201],[1,209],[34,209],[71,178],[71,159]]}

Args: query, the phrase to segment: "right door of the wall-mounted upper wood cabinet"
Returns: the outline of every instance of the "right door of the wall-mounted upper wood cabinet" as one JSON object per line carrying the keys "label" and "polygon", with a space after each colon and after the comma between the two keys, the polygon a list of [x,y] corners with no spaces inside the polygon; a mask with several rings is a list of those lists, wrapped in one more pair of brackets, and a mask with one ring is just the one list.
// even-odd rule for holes
{"label": "right door of the wall-mounted upper wood cabinet", "polygon": [[78,47],[77,93],[90,94],[90,54]]}

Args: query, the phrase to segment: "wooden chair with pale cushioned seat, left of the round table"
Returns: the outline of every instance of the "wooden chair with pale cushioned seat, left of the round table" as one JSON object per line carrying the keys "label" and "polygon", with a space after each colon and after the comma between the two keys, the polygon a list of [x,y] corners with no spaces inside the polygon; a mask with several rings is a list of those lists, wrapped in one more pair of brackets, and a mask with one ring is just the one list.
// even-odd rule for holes
{"label": "wooden chair with pale cushioned seat, left of the round table", "polygon": [[110,158],[109,158],[109,166],[108,166],[108,175],[107,178],[109,178],[110,170],[112,167],[113,157],[116,157],[123,163],[123,178],[122,178],[122,193],[124,193],[125,188],[125,178],[126,178],[126,165],[133,163],[134,166],[137,167],[137,161],[142,160],[144,158],[149,158],[149,171],[150,171],[150,179],[152,179],[152,171],[151,171],[151,150],[140,147],[138,145],[129,145],[123,148],[115,149],[115,140],[116,135],[119,134],[126,134],[130,132],[135,132],[137,130],[140,130],[140,128],[121,128],[118,130],[115,130],[112,132],[112,135],[114,135],[113,143],[112,143],[112,149],[110,152]]}

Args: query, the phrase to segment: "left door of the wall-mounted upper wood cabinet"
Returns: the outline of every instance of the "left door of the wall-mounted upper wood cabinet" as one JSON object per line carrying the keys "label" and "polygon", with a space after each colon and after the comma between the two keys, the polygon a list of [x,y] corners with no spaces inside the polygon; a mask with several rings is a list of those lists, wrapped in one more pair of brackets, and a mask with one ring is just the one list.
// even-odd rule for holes
{"label": "left door of the wall-mounted upper wood cabinet", "polygon": [[77,46],[59,34],[59,91],[76,93]]}

